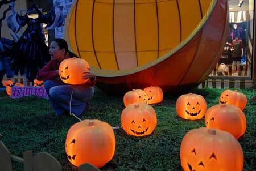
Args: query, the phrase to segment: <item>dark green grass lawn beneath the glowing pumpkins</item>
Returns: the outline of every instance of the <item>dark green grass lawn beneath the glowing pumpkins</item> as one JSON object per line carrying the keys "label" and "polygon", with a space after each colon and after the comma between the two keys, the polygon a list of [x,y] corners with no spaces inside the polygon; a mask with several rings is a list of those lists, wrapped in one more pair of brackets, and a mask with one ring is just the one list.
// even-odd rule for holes
{"label": "dark green grass lawn beneath the glowing pumpkins", "polygon": [[[196,89],[205,97],[208,108],[218,104],[223,89]],[[256,91],[241,90],[247,99]],[[158,116],[153,134],[135,138],[122,129],[115,130],[116,150],[113,159],[101,170],[176,170],[180,171],[179,150],[184,135],[191,129],[204,127],[204,119],[186,121],[177,117],[175,104],[178,96],[166,96],[161,104],[152,105]],[[121,126],[122,97],[111,97],[100,89],[92,100],[92,109],[81,119],[100,119],[111,126]],[[247,129],[239,140],[245,156],[244,170],[256,170],[256,106],[247,103],[245,110]],[[22,157],[23,152],[48,152],[63,165],[65,170],[76,170],[65,156],[65,138],[69,127],[78,120],[71,116],[54,118],[48,100],[36,97],[10,99],[0,92],[0,134],[2,142],[11,154]],[[22,164],[14,164],[14,170],[23,170]],[[236,170],[230,170],[236,171]]]}

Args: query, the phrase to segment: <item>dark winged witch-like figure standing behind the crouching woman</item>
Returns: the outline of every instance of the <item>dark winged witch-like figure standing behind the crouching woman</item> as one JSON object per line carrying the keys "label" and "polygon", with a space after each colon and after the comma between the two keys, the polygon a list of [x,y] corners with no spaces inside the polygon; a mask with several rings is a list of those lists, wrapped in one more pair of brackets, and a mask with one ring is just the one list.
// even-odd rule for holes
{"label": "dark winged witch-like figure standing behind the crouching woman", "polygon": [[[27,29],[23,35],[13,46],[12,49],[12,69],[14,74],[26,75],[27,79],[32,82],[36,78],[36,74],[50,60],[49,49],[45,44],[45,37],[43,34],[42,23],[46,23],[46,29],[53,29],[60,27],[64,21],[64,15],[57,7],[52,7],[48,14],[42,12],[32,5],[28,8],[24,16],[20,16],[12,8],[13,14],[7,19],[8,27],[14,32],[18,33],[20,28],[27,24]],[[31,11],[38,14],[38,18],[32,19],[28,17]]]}

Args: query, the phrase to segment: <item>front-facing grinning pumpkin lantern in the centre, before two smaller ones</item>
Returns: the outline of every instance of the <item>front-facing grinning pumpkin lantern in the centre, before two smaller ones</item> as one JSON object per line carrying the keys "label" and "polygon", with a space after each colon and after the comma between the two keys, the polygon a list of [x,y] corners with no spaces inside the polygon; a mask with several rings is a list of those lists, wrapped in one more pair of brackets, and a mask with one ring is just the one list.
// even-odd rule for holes
{"label": "front-facing grinning pumpkin lantern in the centre, before two smaller ones", "polygon": [[121,114],[123,130],[129,135],[150,135],[156,127],[157,117],[155,110],[148,104],[138,102],[127,105]]}

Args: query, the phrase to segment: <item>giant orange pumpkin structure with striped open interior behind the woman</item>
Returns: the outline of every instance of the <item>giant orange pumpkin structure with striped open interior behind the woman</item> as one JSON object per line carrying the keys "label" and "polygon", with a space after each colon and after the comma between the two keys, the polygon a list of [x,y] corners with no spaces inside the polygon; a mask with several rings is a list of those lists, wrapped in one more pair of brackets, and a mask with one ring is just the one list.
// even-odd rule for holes
{"label": "giant orange pumpkin structure with striped open interior behind the woman", "polygon": [[177,92],[204,82],[216,65],[227,6],[226,0],[75,0],[65,39],[106,92],[150,85]]}

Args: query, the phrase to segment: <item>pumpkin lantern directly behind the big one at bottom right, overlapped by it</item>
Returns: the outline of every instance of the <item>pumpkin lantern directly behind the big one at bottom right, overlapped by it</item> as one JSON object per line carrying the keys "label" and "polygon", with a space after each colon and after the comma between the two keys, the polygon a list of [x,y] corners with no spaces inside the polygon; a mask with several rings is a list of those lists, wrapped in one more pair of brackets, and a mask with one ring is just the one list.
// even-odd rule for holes
{"label": "pumpkin lantern directly behind the big one at bottom right, overlapped by it", "polygon": [[205,113],[205,126],[227,131],[238,139],[245,133],[246,118],[237,106],[215,105]]}

